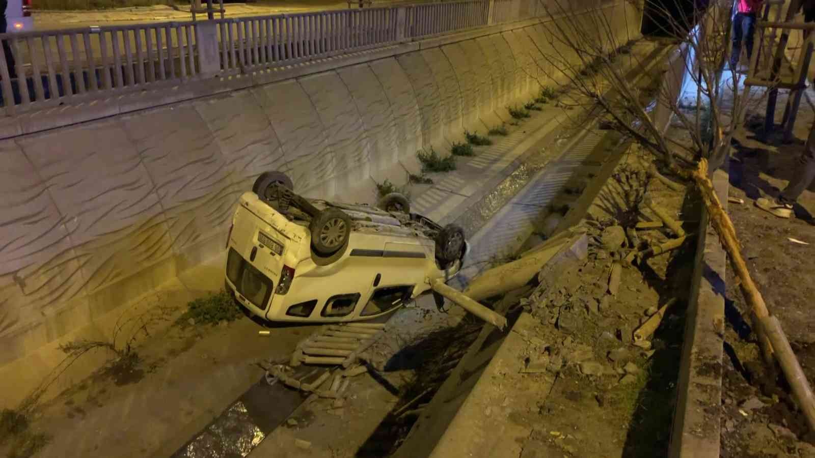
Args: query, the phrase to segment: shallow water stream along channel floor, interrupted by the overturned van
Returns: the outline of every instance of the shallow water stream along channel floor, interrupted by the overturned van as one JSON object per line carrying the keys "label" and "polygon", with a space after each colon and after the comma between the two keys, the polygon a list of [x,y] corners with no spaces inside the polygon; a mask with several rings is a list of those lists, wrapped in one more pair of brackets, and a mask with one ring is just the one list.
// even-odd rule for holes
{"label": "shallow water stream along channel floor, interrupted by the overturned van", "polygon": [[[531,237],[539,240],[533,233],[540,231],[540,222],[550,213],[550,205],[554,202],[568,205],[579,196],[567,183],[588,183],[602,161],[616,164],[625,149],[619,143],[619,134],[603,134],[597,130],[579,130],[571,139],[560,143],[557,152],[538,149],[526,155],[495,191],[487,193],[456,218],[455,222],[465,227],[465,231],[475,231],[469,239],[473,249],[468,262],[473,266],[462,271],[450,284],[461,288],[488,267],[491,259],[510,256]],[[555,155],[557,158],[550,160]],[[569,192],[564,192],[565,189]],[[513,195],[510,190],[516,193]],[[430,297],[423,299],[431,300]],[[297,368],[295,377],[312,381],[325,370],[302,366]],[[269,385],[266,380],[260,380],[173,457],[192,458],[200,456],[202,451],[206,451],[206,456],[246,456],[305,399],[305,395],[282,383]]]}

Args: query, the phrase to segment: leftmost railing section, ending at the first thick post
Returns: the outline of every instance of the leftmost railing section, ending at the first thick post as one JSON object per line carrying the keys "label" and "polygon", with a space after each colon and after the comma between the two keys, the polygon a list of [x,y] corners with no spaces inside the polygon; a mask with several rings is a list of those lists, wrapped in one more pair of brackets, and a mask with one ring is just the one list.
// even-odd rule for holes
{"label": "leftmost railing section, ending at the first thick post", "polygon": [[7,108],[196,77],[195,23],[139,24],[50,32],[7,33],[14,55],[0,59]]}

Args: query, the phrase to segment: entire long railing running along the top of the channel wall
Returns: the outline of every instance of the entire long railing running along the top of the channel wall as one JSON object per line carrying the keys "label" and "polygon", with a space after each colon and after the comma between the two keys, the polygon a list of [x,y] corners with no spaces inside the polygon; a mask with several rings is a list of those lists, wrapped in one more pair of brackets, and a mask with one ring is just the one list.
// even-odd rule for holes
{"label": "entire long railing running along the top of the channel wall", "polygon": [[[529,19],[537,0],[464,0],[197,22],[0,34],[7,115],[253,73],[418,37]],[[12,61],[14,64],[11,64]]]}

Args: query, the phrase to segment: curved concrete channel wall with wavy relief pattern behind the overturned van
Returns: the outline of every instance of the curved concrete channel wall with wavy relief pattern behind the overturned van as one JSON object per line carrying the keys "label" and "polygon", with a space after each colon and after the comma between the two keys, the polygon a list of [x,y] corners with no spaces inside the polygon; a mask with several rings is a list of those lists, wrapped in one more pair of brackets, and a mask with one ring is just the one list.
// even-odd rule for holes
{"label": "curved concrete channel wall with wavy relief pattern behind the overturned van", "polygon": [[[639,36],[634,7],[604,11],[620,41]],[[286,171],[306,196],[372,202],[375,183],[420,171],[417,150],[447,154],[465,130],[499,125],[505,107],[557,84],[544,59],[554,30],[526,21],[434,38],[413,43],[419,51],[3,140],[0,391],[42,379],[62,359],[60,341],[108,335],[146,297],[218,288],[218,269],[192,269],[222,251],[234,202],[262,171]]]}

